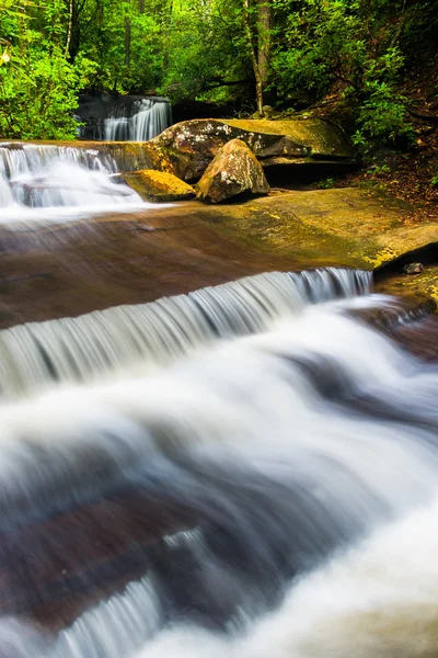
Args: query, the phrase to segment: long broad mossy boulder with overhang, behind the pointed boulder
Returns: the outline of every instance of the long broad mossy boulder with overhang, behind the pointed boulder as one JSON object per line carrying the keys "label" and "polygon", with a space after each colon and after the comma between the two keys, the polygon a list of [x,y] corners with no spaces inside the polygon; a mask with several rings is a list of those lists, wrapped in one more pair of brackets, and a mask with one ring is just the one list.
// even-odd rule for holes
{"label": "long broad mossy boulder with overhang, behind the pointed boulder", "polygon": [[330,160],[336,168],[356,159],[343,131],[320,118],[185,121],[171,126],[150,144],[169,157],[180,178],[197,181],[220,148],[232,139],[244,141],[263,166]]}

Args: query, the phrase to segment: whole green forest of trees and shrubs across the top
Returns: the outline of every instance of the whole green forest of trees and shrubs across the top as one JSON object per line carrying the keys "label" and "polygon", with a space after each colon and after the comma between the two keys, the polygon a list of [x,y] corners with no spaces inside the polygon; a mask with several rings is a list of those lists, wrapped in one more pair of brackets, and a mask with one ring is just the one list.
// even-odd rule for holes
{"label": "whole green forest of trees and shrubs across the top", "polygon": [[438,98],[437,34],[433,0],[0,0],[0,136],[73,139],[100,90],[242,116],[332,102],[364,154],[403,149],[407,88]]}

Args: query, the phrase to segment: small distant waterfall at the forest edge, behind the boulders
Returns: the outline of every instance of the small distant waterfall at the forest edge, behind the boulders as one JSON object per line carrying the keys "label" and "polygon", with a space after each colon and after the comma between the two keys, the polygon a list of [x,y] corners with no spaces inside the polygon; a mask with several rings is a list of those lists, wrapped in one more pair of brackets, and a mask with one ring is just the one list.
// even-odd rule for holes
{"label": "small distant waterfall at the forest edge, behind the boulders", "polygon": [[168,101],[141,99],[134,103],[132,116],[125,115],[122,106],[104,121],[106,141],[148,141],[160,135],[172,124],[172,112]]}

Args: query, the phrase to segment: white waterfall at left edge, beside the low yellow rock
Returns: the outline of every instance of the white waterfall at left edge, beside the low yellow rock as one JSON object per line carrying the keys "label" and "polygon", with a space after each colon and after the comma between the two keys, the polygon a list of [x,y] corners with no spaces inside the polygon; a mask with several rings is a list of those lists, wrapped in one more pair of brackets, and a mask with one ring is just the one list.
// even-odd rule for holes
{"label": "white waterfall at left edge, beside the low yellow rock", "polygon": [[[23,208],[107,208],[141,205],[113,174],[112,156],[69,146],[0,145],[0,207],[23,216]],[[4,212],[2,218],[4,218]],[[28,215],[24,215],[28,216]]]}

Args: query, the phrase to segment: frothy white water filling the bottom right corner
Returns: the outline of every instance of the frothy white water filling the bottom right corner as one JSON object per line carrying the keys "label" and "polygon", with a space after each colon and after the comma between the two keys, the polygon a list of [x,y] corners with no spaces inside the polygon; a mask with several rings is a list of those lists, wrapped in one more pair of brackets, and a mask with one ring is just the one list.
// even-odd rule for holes
{"label": "frothy white water filling the bottom right corner", "polygon": [[223,638],[177,627],[135,658],[430,658],[438,653],[438,502],[303,578],[278,611]]}

